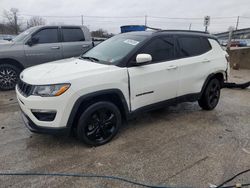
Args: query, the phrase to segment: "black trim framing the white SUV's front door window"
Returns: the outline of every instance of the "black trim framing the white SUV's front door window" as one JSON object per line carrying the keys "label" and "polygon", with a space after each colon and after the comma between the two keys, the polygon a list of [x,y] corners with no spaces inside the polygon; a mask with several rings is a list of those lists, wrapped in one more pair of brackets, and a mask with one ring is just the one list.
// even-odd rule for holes
{"label": "black trim framing the white SUV's front door window", "polygon": [[[178,51],[177,51],[177,50],[178,50],[178,49],[177,49],[177,43],[176,43],[177,41],[176,41],[175,36],[172,35],[172,34],[158,35],[158,36],[152,37],[150,40],[148,40],[147,42],[145,42],[145,44],[143,44],[143,46],[141,46],[139,49],[137,49],[137,50],[133,53],[133,55],[129,58],[127,67],[136,67],[136,66],[138,66],[138,65],[135,65],[135,62],[133,61],[133,59],[135,59],[135,56],[136,56],[138,53],[140,53],[141,50],[143,50],[144,48],[146,48],[146,46],[147,46],[148,44],[150,44],[153,40],[158,39],[158,38],[160,38],[160,39],[163,40],[164,38],[167,38],[167,37],[169,37],[169,38],[172,37],[173,40],[174,40],[174,57],[175,57],[175,58],[169,59],[169,60],[162,60],[162,61],[156,61],[156,62],[149,62],[149,63],[145,63],[145,64],[143,64],[143,65],[153,65],[153,64],[157,64],[157,63],[163,63],[163,62],[167,62],[167,61],[174,61],[174,60],[178,59],[178,56],[177,56],[177,54],[178,54]],[[143,65],[141,65],[141,66],[143,66]]]}

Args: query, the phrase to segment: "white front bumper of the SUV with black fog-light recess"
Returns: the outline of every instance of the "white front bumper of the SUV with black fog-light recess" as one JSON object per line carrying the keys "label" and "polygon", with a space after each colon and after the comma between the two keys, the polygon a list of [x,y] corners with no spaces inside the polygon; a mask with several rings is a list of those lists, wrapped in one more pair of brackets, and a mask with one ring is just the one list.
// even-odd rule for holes
{"label": "white front bumper of the SUV with black fog-light recess", "polygon": [[[25,119],[28,120],[27,122],[30,122],[26,122],[26,124],[28,124],[28,128],[31,131],[50,133],[50,130],[57,132],[57,130],[64,130],[71,127],[67,123],[75,101],[75,96],[72,95],[71,90],[58,97],[25,97],[16,88],[16,96],[21,111],[25,114]],[[39,115],[36,112],[41,113]],[[45,116],[41,116],[44,112],[55,112],[55,114],[53,118],[48,119],[48,116],[46,118]]]}

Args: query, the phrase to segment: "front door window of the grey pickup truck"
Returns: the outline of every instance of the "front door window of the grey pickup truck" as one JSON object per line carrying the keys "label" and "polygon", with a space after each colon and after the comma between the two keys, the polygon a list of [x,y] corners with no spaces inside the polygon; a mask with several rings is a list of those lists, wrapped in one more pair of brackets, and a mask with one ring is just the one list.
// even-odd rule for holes
{"label": "front door window of the grey pickup truck", "polygon": [[58,42],[57,28],[43,29],[36,33],[33,38],[38,40],[38,44]]}

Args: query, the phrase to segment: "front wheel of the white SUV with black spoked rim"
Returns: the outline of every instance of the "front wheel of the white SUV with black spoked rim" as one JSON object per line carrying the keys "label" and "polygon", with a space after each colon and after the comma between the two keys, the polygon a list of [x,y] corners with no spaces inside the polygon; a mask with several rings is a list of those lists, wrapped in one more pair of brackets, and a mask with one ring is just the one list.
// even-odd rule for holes
{"label": "front wheel of the white SUV with black spoked rim", "polygon": [[90,146],[106,144],[118,133],[121,122],[116,105],[107,101],[96,102],[80,115],[77,137]]}

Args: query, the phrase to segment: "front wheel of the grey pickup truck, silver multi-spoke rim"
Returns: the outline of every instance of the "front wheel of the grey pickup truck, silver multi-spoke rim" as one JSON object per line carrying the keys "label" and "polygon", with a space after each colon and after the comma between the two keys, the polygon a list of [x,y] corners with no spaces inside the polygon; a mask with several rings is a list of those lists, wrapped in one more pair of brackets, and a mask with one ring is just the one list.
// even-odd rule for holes
{"label": "front wheel of the grey pickup truck, silver multi-spoke rim", "polygon": [[8,91],[15,88],[21,70],[10,64],[0,64],[0,90]]}

